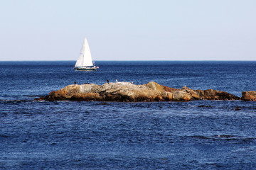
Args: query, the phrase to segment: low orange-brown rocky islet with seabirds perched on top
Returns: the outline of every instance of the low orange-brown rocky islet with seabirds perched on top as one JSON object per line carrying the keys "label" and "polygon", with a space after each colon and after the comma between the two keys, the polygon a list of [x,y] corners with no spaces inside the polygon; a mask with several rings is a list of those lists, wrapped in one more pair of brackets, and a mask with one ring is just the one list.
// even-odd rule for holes
{"label": "low orange-brown rocky islet with seabirds perched on top", "polygon": [[129,82],[97,84],[72,84],[58,91],[51,91],[48,96],[36,100],[46,101],[193,101],[193,100],[244,100],[256,101],[256,91],[242,92],[242,98],[225,91],[213,89],[193,90],[183,86],[174,89],[157,84],[136,85]]}

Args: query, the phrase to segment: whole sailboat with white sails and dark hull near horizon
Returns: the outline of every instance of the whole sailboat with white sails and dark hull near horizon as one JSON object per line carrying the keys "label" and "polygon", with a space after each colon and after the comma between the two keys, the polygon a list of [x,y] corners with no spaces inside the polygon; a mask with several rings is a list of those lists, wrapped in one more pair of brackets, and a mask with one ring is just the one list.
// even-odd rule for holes
{"label": "whole sailboat with white sails and dark hull near horizon", "polygon": [[85,38],[82,44],[82,48],[80,50],[80,55],[78,57],[77,62],[75,63],[74,69],[94,71],[97,70],[97,68],[99,67],[95,66],[95,62],[92,62],[90,47],[88,45],[87,39]]}

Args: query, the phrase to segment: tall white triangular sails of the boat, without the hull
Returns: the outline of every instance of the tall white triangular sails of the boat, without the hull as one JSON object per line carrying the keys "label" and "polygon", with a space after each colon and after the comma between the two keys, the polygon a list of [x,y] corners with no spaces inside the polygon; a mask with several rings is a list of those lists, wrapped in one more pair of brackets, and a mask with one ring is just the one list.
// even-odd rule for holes
{"label": "tall white triangular sails of the boat, without the hull", "polygon": [[75,67],[87,67],[93,66],[92,56],[90,53],[90,47],[88,45],[87,39],[85,38],[82,48],[80,50],[80,55],[78,57],[77,62],[75,63]]}

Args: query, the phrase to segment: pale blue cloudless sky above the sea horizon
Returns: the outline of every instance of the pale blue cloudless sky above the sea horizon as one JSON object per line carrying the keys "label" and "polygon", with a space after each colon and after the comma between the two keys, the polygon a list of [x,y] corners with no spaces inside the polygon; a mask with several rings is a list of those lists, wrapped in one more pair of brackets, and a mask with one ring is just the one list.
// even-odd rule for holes
{"label": "pale blue cloudless sky above the sea horizon", "polygon": [[0,2],[0,61],[256,60],[255,0]]}

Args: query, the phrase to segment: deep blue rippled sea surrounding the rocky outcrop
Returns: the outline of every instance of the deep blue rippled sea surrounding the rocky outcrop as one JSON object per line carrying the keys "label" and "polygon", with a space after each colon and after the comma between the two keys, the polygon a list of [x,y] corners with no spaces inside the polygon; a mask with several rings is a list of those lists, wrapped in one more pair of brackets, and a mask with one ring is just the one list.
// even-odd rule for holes
{"label": "deep blue rippled sea surrounding the rocky outcrop", "polygon": [[256,62],[0,62],[0,169],[256,169],[256,102],[33,101],[73,84],[133,81],[256,90]]}

